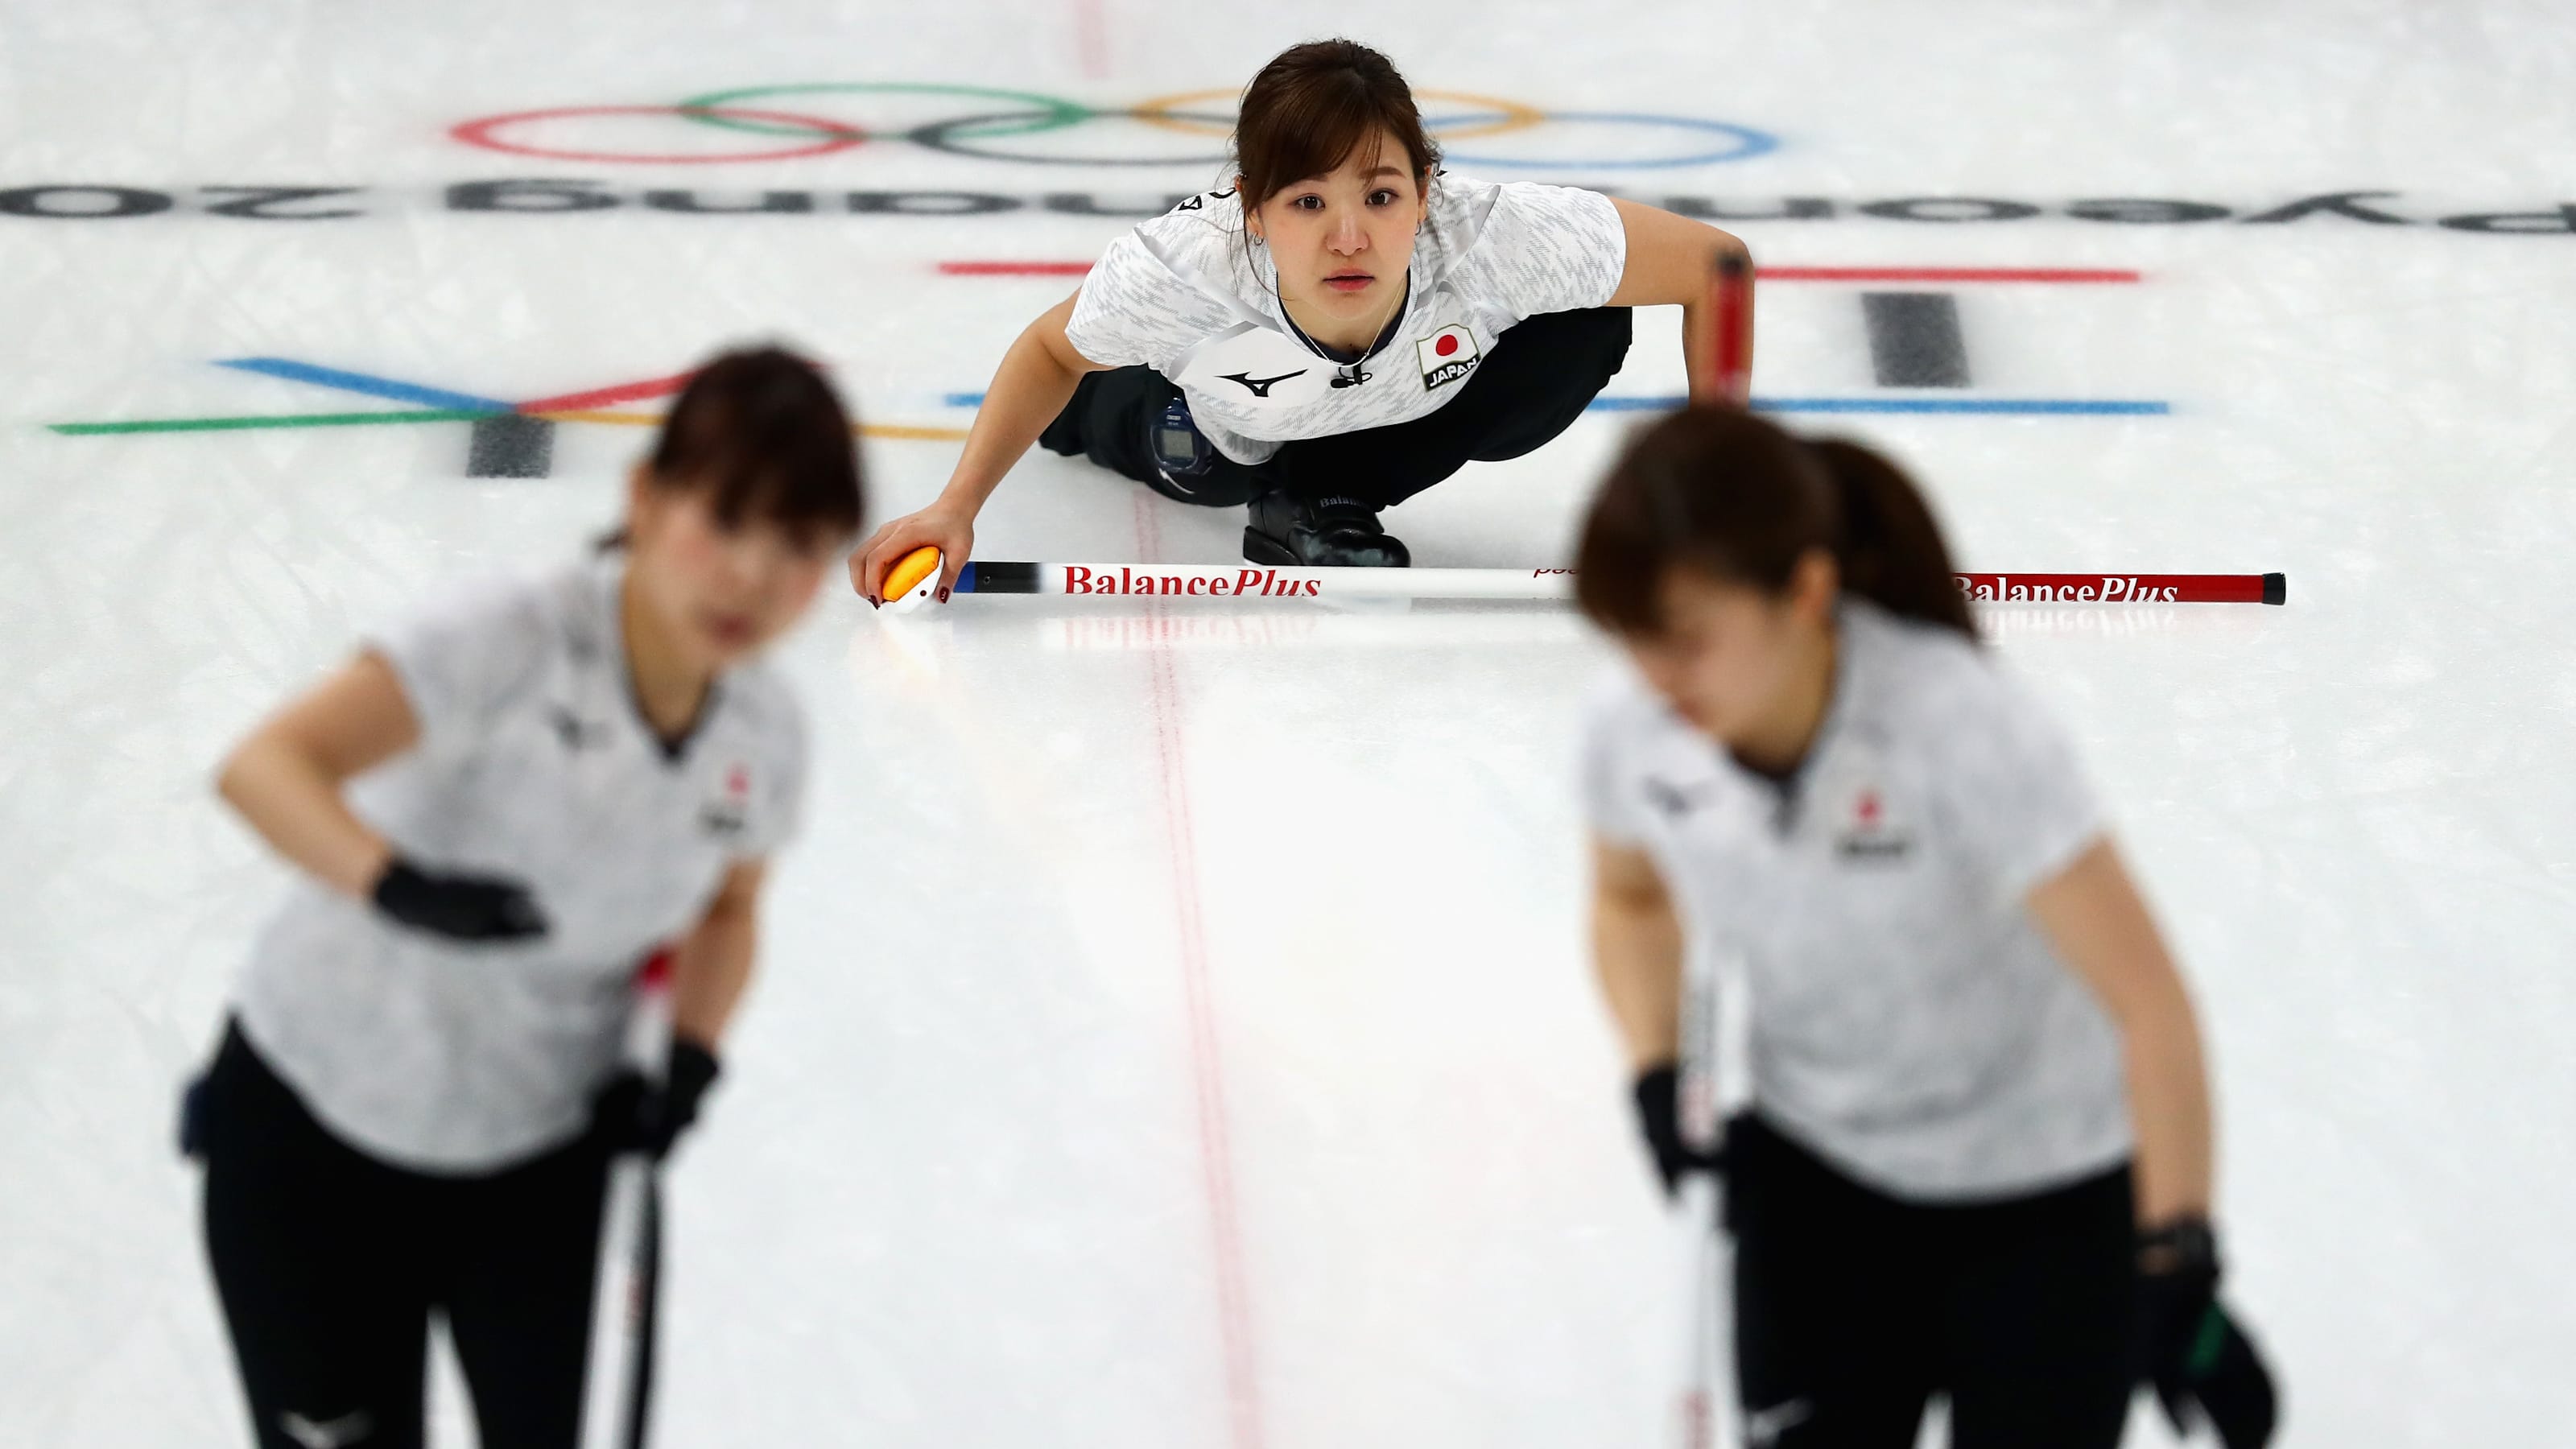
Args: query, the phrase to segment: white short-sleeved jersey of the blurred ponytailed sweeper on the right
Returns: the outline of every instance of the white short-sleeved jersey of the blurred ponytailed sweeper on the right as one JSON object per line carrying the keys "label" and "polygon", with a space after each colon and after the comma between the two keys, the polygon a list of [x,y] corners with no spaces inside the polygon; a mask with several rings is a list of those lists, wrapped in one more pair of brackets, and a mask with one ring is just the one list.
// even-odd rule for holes
{"label": "white short-sleeved jersey of the blurred ponytailed sweeper on the right", "polygon": [[1842,606],[1790,781],[1620,670],[1584,743],[1595,833],[1649,851],[1703,959],[1741,962],[1754,1109],[1880,1191],[2038,1191],[2130,1150],[2120,1044],[2025,897],[2102,835],[2063,732],[1958,634]]}

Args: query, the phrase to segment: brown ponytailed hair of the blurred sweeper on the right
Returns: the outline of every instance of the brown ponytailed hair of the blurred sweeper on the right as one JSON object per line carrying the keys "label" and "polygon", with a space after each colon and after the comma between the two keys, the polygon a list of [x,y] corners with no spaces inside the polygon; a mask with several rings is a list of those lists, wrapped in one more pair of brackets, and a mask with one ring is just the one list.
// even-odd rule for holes
{"label": "brown ponytailed hair of the blurred sweeper on the right", "polygon": [[1950,544],[1904,469],[1739,407],[1685,407],[1628,443],[1584,518],[1574,598],[1602,629],[1654,634],[1669,570],[1780,593],[1811,549],[1834,557],[1844,593],[1976,639]]}

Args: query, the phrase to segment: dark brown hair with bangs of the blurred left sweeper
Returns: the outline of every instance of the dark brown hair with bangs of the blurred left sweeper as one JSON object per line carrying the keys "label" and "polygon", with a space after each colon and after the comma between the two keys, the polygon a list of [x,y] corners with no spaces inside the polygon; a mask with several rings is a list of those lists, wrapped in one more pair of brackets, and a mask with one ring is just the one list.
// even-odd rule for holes
{"label": "dark brown hair with bangs of the blurred left sweeper", "polygon": [[672,400],[654,438],[659,487],[706,490],[716,521],[845,539],[868,513],[850,415],[811,361],[786,348],[719,353]]}

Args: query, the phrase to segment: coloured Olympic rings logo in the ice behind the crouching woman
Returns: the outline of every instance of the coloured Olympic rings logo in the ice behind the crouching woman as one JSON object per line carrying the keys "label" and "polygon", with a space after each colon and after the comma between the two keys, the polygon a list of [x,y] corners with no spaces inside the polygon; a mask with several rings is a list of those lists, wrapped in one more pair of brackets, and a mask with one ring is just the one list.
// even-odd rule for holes
{"label": "coloured Olympic rings logo in the ice behind the crouching woman", "polygon": [[[1468,95],[1458,90],[1417,90],[1422,101],[1437,103],[1422,121],[1440,139],[1450,162],[1476,170],[1669,170],[1685,165],[1716,165],[1749,160],[1780,147],[1780,139],[1731,121],[1705,121],[1700,116],[1654,116],[1641,111],[1540,111],[1520,101]],[[845,116],[817,113],[819,98],[940,98],[963,103],[966,113],[914,124],[868,124]],[[471,147],[507,155],[611,162],[611,165],[726,165],[775,162],[850,152],[866,144],[904,142],[930,152],[1023,162],[1023,165],[1118,165],[1118,168],[1221,168],[1229,157],[1221,150],[1149,155],[1100,150],[1064,150],[1061,142],[1041,142],[1095,121],[1131,121],[1157,134],[1224,139],[1234,131],[1231,111],[1208,108],[1231,101],[1234,90],[1185,90],[1159,95],[1136,106],[1087,106],[1061,95],[1033,90],[999,90],[989,85],[935,85],[909,80],[850,80],[824,85],[744,85],[737,90],[711,90],[670,106],[556,106],[551,111],[513,111],[507,116],[482,116],[453,126],[448,134]],[[793,106],[788,111],[781,103]],[[737,137],[765,137],[744,142],[742,150],[685,150],[685,152],[618,152],[549,147],[538,137],[564,121],[598,119],[665,119],[690,126],[732,131]],[[1553,131],[1558,144],[1579,144],[1587,134],[1625,137],[1628,144],[1607,150],[1625,155],[1551,155],[1556,147],[1540,144],[1535,152],[1507,155],[1486,150],[1486,137],[1525,137]],[[1468,142],[1471,150],[1458,150]],[[1636,142],[1643,142],[1636,144]],[[1651,155],[1636,155],[1646,150]],[[1672,152],[1672,155],[1662,155]]]}

